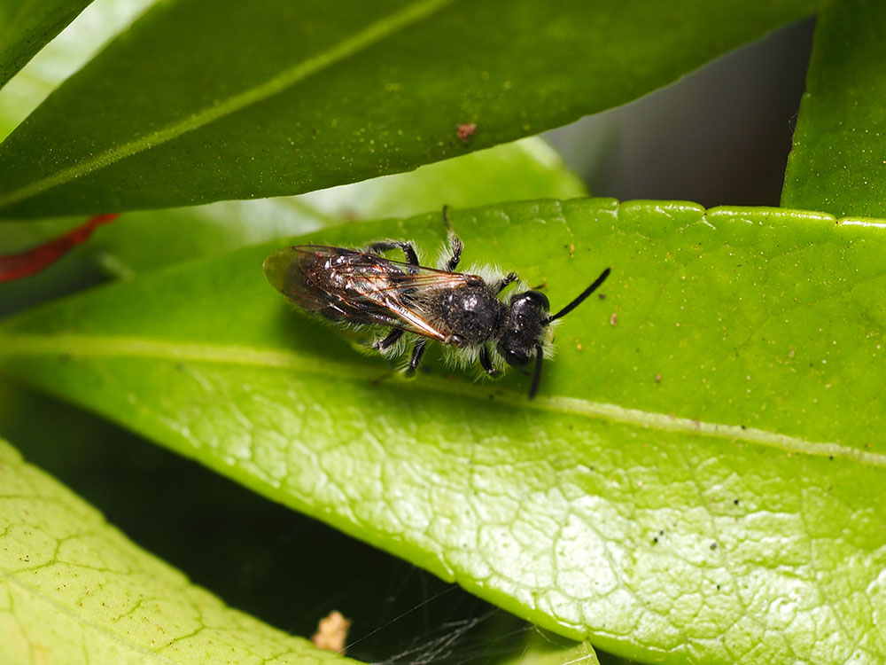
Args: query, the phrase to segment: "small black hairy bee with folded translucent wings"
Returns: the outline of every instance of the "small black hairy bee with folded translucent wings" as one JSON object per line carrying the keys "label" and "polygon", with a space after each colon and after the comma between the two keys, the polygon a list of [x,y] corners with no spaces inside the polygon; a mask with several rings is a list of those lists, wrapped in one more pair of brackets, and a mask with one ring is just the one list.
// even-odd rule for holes
{"label": "small black hairy bee with folded translucent wings", "polygon": [[[450,350],[456,364],[479,362],[497,377],[507,365],[523,369],[535,359],[529,397],[541,379],[541,361],[552,356],[553,325],[594,293],[610,269],[556,314],[548,297],[522,283],[516,272],[474,268],[456,272],[464,245],[447,223],[447,246],[438,268],[420,264],[407,240],[379,240],[363,249],[297,245],[279,249],[264,262],[265,275],[278,291],[308,314],[358,329],[382,330],[371,348],[402,356],[405,342],[412,353],[405,368],[416,372],[429,341]],[[404,261],[383,253],[399,250]],[[512,293],[503,294],[517,283]]]}

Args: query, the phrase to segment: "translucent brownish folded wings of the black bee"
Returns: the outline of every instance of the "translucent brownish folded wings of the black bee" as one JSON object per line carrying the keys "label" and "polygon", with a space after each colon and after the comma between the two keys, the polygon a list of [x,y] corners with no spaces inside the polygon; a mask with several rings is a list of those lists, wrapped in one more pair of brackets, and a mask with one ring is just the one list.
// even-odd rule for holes
{"label": "translucent brownish folded wings of the black bee", "polygon": [[390,261],[378,254],[324,245],[279,249],[265,261],[268,281],[308,312],[354,324],[386,325],[432,340],[450,331],[433,323],[426,295],[464,286],[457,272]]}

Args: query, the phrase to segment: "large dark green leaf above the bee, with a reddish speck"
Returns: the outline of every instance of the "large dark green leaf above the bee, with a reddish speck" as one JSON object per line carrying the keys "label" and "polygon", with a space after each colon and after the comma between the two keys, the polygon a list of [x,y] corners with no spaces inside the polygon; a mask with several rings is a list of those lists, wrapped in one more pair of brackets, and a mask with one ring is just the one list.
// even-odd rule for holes
{"label": "large dark green leaf above the bee, with a reddish speck", "polygon": [[262,198],[416,168],[623,104],[815,4],[160,3],[7,138],[0,213]]}

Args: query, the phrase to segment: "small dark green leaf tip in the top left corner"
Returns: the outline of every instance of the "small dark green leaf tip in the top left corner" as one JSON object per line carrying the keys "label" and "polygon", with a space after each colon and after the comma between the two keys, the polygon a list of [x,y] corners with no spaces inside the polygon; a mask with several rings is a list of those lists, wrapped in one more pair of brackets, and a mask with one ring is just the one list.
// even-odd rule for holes
{"label": "small dark green leaf tip in the top left corner", "polygon": [[0,88],[91,0],[0,0]]}

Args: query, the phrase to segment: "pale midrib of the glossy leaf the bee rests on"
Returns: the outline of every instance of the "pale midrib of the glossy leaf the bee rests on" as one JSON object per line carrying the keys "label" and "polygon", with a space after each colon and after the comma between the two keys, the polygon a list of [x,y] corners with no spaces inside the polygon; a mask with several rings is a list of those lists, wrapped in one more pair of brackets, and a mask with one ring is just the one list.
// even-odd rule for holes
{"label": "pale midrib of the glossy leaf the bee rests on", "polygon": [[[146,340],[127,336],[0,333],[0,359],[4,356],[59,355],[155,358],[175,362],[188,361],[286,369],[303,374],[333,376],[337,379],[366,379],[365,368],[360,366],[330,360],[316,363],[293,351],[278,349],[244,347],[235,344]],[[478,384],[465,381],[454,382],[434,376],[423,377],[422,388],[447,395],[486,397],[484,388]],[[874,451],[856,450],[837,442],[812,442],[797,436],[779,434],[755,427],[677,418],[666,413],[629,409],[618,406],[618,404],[592,402],[577,397],[540,395],[530,402],[526,400],[525,395],[517,393],[517,391],[505,389],[502,392],[506,395],[506,400],[503,403],[518,403],[521,408],[525,409],[585,416],[642,429],[711,436],[784,450],[790,454],[841,458],[859,464],[886,467],[886,455]]]}

